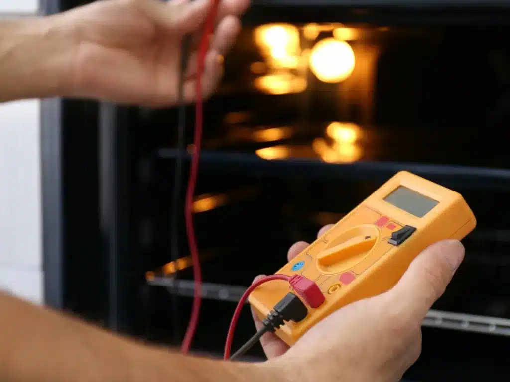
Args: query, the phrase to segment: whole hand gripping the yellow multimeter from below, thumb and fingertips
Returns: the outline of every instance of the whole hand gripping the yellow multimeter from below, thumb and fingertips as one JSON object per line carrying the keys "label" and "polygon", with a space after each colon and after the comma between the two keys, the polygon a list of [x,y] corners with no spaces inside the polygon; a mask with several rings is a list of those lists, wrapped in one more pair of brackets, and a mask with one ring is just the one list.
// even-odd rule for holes
{"label": "whole hand gripping the yellow multimeter from below, thumb and fingertips", "polygon": [[[324,227],[319,236],[329,228]],[[307,245],[294,244],[288,258]],[[303,381],[398,381],[418,359],[421,323],[463,258],[464,247],[456,240],[431,245],[391,290],[331,314],[292,348],[274,334],[265,335],[266,355],[287,373],[299,373],[298,379]],[[260,321],[254,319],[259,327]]]}

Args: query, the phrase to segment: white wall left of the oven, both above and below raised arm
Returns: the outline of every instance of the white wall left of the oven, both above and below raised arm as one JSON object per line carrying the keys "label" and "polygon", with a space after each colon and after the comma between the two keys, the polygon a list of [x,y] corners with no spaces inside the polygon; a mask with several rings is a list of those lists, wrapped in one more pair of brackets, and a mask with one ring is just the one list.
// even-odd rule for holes
{"label": "white wall left of the oven, both above and below raised arm", "polygon": [[[38,0],[0,0],[0,19]],[[0,288],[42,303],[40,102],[0,104]]]}

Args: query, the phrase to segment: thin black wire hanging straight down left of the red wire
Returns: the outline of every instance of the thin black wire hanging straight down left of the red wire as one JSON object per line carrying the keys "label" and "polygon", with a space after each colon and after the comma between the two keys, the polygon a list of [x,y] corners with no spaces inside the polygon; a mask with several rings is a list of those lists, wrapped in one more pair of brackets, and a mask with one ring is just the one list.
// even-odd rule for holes
{"label": "thin black wire hanging straight down left of the red wire", "polygon": [[[179,70],[179,122],[177,126],[177,156],[175,158],[175,173],[173,182],[173,200],[172,200],[172,215],[171,215],[171,257],[175,261],[179,259],[179,235],[180,235],[180,221],[183,211],[181,208],[181,190],[183,188],[183,156],[186,150],[186,102],[184,94],[184,84],[186,78],[186,70],[188,67],[188,60],[190,55],[192,36],[184,36],[181,47],[181,67]],[[176,342],[180,341],[180,326],[179,326],[179,310],[177,309],[177,296],[172,294],[173,305],[173,322],[174,322],[174,339]]]}

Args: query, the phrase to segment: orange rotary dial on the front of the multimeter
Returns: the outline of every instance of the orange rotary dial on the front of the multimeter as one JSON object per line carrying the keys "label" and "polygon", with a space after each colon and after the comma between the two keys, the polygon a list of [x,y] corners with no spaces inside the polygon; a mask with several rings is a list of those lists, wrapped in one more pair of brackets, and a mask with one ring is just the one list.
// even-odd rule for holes
{"label": "orange rotary dial on the front of the multimeter", "polygon": [[317,268],[323,274],[334,275],[360,263],[379,242],[380,231],[372,225],[356,226],[334,238],[317,254]]}

